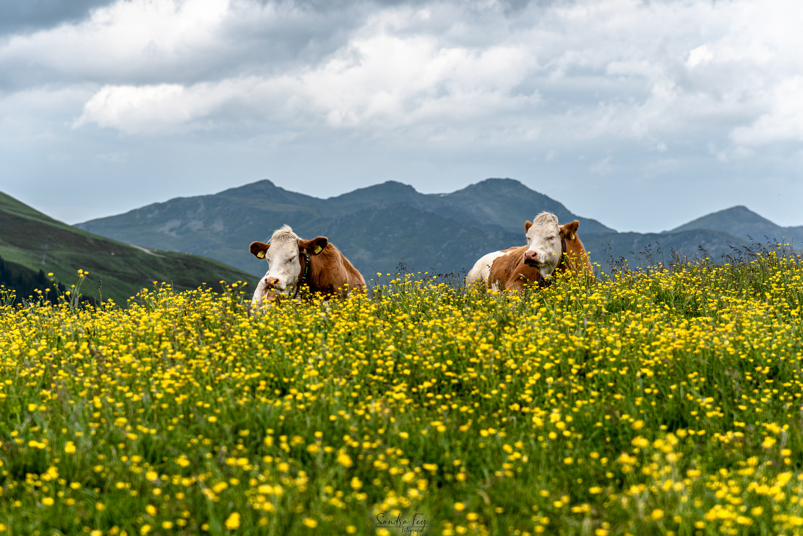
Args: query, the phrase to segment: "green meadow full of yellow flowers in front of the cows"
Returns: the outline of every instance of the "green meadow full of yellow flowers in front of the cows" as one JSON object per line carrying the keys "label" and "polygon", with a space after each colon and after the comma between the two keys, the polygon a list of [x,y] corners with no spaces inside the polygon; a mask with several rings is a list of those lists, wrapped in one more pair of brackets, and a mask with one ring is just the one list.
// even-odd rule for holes
{"label": "green meadow full of yellow flowers in front of the cows", "polygon": [[800,258],[244,296],[0,306],[0,534],[803,532]]}

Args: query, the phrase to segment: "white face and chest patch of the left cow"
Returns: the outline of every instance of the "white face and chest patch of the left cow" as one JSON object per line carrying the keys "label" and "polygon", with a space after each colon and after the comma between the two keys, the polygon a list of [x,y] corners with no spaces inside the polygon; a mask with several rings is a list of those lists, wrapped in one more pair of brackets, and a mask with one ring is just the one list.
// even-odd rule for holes
{"label": "white face and chest patch of the left cow", "polygon": [[299,236],[289,225],[274,231],[265,253],[268,270],[259,281],[252,302],[257,305],[271,292],[292,293],[298,286],[301,274]]}

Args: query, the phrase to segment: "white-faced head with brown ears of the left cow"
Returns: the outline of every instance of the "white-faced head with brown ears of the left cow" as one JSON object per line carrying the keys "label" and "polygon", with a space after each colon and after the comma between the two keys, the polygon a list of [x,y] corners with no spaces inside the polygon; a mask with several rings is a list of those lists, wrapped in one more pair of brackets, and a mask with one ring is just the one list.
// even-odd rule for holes
{"label": "white-faced head with brown ears of the left cow", "polygon": [[264,277],[267,287],[283,291],[299,285],[304,254],[312,259],[324,252],[328,244],[325,236],[300,239],[285,225],[273,233],[270,243],[252,242],[249,249],[257,259],[267,260],[268,270]]}

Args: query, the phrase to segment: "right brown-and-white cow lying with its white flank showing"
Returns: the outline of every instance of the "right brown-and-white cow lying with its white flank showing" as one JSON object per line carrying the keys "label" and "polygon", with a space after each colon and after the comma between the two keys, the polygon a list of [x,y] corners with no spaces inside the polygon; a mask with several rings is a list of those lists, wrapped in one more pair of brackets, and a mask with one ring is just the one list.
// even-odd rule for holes
{"label": "right brown-and-white cow lying with its white flank showing", "polygon": [[553,272],[571,269],[591,274],[591,262],[577,238],[577,227],[577,220],[560,225],[556,215],[542,212],[533,223],[524,223],[526,246],[483,256],[468,272],[466,285],[484,280],[495,290],[522,290],[528,285],[548,285]]}

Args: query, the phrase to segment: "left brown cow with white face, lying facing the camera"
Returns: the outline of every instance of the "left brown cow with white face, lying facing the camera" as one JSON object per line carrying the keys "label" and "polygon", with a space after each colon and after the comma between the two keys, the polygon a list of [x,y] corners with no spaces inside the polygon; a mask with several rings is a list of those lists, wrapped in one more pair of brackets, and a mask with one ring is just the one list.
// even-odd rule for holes
{"label": "left brown cow with white face, lying facing the camera", "polygon": [[304,240],[285,225],[274,231],[269,242],[252,242],[249,247],[252,255],[268,264],[251,299],[253,305],[282,293],[297,297],[304,286],[312,293],[340,297],[365,291],[360,272],[325,236]]}

